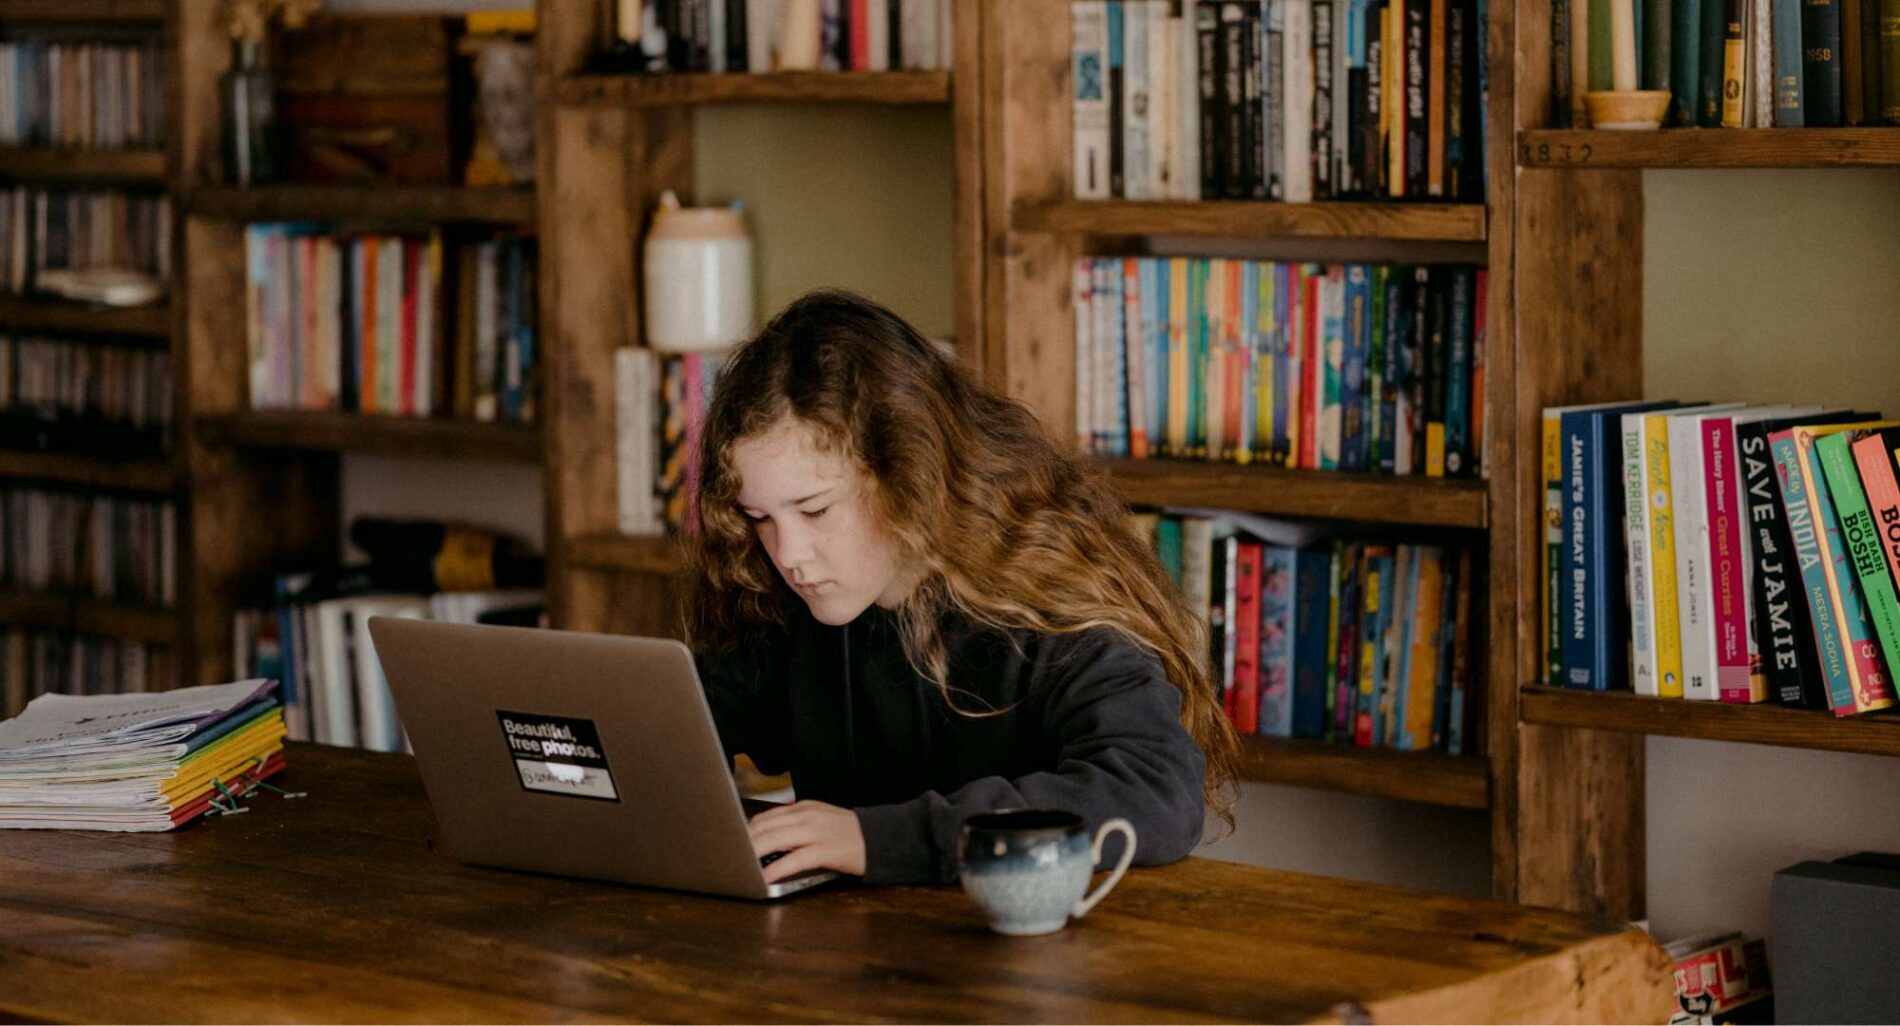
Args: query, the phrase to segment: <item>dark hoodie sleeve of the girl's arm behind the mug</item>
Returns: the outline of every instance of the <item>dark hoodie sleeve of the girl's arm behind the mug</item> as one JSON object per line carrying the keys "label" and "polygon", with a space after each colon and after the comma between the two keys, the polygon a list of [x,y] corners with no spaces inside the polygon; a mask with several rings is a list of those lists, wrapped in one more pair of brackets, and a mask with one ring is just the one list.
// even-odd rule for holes
{"label": "dark hoodie sleeve of the girl's arm behind the mug", "polygon": [[[971,813],[1056,808],[1091,834],[1110,819],[1134,826],[1134,864],[1172,863],[1201,842],[1206,758],[1180,724],[1180,690],[1161,661],[1100,627],[1043,638],[1028,701],[1039,709],[1047,771],[980,777],[948,794],[859,808],[864,880],[952,884],[958,834]],[[1104,849],[1112,864],[1117,844]]]}

